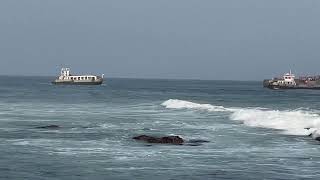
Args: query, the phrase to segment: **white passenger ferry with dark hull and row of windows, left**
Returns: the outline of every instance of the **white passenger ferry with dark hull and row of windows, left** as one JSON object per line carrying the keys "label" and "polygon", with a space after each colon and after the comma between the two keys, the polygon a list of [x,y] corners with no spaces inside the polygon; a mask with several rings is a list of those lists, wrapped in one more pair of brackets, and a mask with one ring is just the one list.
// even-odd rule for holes
{"label": "white passenger ferry with dark hull and row of windows, left", "polygon": [[71,75],[70,68],[62,68],[60,76],[52,83],[70,85],[100,85],[102,82],[103,75]]}

